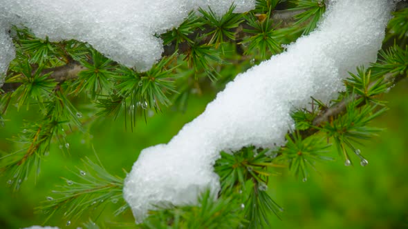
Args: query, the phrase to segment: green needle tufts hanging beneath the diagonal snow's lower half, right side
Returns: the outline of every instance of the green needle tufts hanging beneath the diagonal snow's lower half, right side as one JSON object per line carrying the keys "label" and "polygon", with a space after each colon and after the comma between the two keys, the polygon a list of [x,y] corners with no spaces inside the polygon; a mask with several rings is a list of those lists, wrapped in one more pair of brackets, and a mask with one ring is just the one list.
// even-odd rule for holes
{"label": "green needle tufts hanging beneath the diagonal snow's lower half, right side", "polygon": [[239,199],[244,203],[245,219],[248,228],[270,226],[270,213],[275,215],[282,208],[266,193],[270,168],[279,167],[272,163],[270,150],[257,150],[254,147],[243,148],[234,154],[221,152],[221,159],[216,161],[215,172],[220,176],[221,195],[239,192]]}

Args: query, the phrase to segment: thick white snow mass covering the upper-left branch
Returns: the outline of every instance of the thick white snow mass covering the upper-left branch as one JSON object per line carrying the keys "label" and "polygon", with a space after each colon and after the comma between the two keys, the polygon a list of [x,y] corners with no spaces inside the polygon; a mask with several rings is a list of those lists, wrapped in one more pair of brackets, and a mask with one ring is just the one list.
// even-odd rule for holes
{"label": "thick white snow mass covering the upper-left branch", "polygon": [[[211,6],[223,14],[232,3],[237,6],[235,12],[255,6],[255,0],[0,0],[0,22],[27,26],[50,41],[88,42],[106,57],[145,71],[163,52],[163,41],[155,34],[177,27],[198,7]],[[1,32],[0,44],[8,45],[10,37]],[[0,51],[5,51],[0,52],[2,70],[10,62],[2,56],[14,52]]]}

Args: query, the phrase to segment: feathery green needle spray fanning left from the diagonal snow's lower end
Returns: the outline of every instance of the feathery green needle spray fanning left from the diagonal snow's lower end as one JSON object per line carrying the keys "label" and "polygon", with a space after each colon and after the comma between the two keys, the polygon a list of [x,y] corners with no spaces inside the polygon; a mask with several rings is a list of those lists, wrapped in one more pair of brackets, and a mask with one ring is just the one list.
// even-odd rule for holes
{"label": "feathery green needle spray fanning left from the diagonal snow's lower end", "polygon": [[69,226],[71,221],[85,213],[94,212],[105,204],[121,205],[115,215],[129,207],[122,197],[122,178],[111,175],[102,164],[94,163],[87,157],[83,162],[83,170],[71,170],[76,179],[63,178],[65,184],[58,186],[58,190],[53,190],[53,195],[46,197],[42,206],[37,208],[41,214],[48,215],[46,221],[56,212],[64,212],[62,217],[67,220],[66,226]]}

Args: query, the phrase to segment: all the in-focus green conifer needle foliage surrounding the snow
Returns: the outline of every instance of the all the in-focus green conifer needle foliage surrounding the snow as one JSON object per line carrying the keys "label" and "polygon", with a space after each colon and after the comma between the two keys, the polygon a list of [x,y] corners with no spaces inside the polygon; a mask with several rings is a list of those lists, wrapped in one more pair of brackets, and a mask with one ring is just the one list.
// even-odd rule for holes
{"label": "all the in-focus green conifer needle foliage surrounding the snow", "polygon": [[[272,20],[273,14],[279,13],[275,8],[293,4],[295,8],[290,10],[300,12],[295,23],[282,26]],[[13,28],[17,58],[10,63],[6,77],[6,86],[11,90],[7,87],[0,90],[0,126],[8,125],[6,110],[10,104],[16,104],[20,112],[26,106],[26,110],[40,118],[26,121],[21,133],[12,138],[19,149],[10,154],[1,152],[1,171],[7,174],[8,186],[19,190],[32,170],[37,179],[53,143],[69,152],[67,135],[77,130],[85,132],[86,124],[92,125],[106,116],[123,117],[125,128],[130,121],[133,131],[139,116],[144,116],[147,122],[148,112],[166,112],[164,108],[171,106],[184,110],[193,94],[214,94],[237,72],[254,64],[250,60],[277,54],[282,51],[282,43],[293,42],[301,32],[313,31],[326,5],[319,0],[290,3],[257,0],[257,8],[248,14],[233,13],[234,8],[231,6],[222,17],[211,8],[199,9],[199,15],[190,12],[178,28],[161,35],[172,55],[163,57],[147,72],[121,66],[80,41],[54,43],[36,38],[27,29]],[[214,165],[221,181],[217,197],[207,191],[199,197],[198,205],[156,206],[140,228],[270,228],[276,218],[272,215],[279,218],[283,211],[268,190],[272,175],[278,174],[277,168],[288,168],[289,173],[306,181],[310,168],[318,169],[317,161],[333,159],[326,152],[330,141],[346,166],[352,164],[350,150],[362,166],[367,166],[358,146],[380,131],[369,126],[387,110],[380,96],[396,79],[407,77],[408,48],[404,48],[407,12],[406,9],[396,12],[389,24],[393,33],[388,37],[397,37],[395,44],[389,49],[384,44],[381,59],[371,68],[358,68],[356,73],[350,73],[344,81],[346,92],[337,100],[326,104],[312,98],[310,110],[293,111],[295,130],[286,136],[285,146],[271,149],[249,146],[237,152],[221,152]],[[84,68],[77,77],[53,78],[59,67],[72,63],[80,63]],[[342,104],[346,104],[346,110],[314,123],[327,110],[336,110]],[[89,110],[90,119],[82,117],[77,108],[80,106]],[[59,215],[66,220],[66,226],[71,221],[97,215],[84,224],[87,228],[98,228],[93,220],[98,219],[97,211],[102,212],[108,203],[109,206],[120,203],[114,215],[127,212],[129,207],[122,199],[123,179],[111,175],[100,162],[86,158],[84,164],[84,169],[73,172],[75,179],[63,178],[65,184],[53,191],[52,197],[46,197],[38,212],[45,213],[47,219]],[[134,226],[133,219],[130,225]]]}

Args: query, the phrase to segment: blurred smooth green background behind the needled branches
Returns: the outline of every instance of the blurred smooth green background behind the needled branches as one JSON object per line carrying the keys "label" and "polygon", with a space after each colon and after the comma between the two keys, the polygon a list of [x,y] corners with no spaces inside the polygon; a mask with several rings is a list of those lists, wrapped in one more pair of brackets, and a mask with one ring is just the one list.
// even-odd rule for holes
{"label": "blurred smooth green background behind the needled branches", "polygon": [[[82,158],[95,159],[92,146],[111,174],[124,177],[122,168],[131,170],[140,150],[167,143],[184,123],[203,112],[214,96],[190,97],[184,113],[169,109],[149,117],[147,124],[140,119],[133,132],[124,129],[122,119],[113,121],[106,117],[96,119],[88,126],[89,134],[68,134],[70,152],[63,153],[55,143],[41,166],[37,184],[34,179],[29,179],[20,192],[12,193],[6,185],[7,177],[0,177],[0,228],[24,228],[43,223],[45,216],[35,215],[33,208],[46,201],[47,196],[52,196],[51,190],[56,185],[64,183],[61,177],[74,177],[68,169],[79,171],[75,166],[81,168]],[[372,126],[385,130],[360,148],[369,161],[368,166],[360,166],[357,157],[353,158],[355,165],[351,167],[344,166],[344,162],[337,159],[318,164],[318,172],[312,172],[305,183],[284,170],[280,170],[281,176],[272,177],[268,190],[285,208],[282,220],[272,219],[273,228],[408,228],[407,98],[407,80],[384,95],[390,110],[375,119]],[[89,118],[86,106],[79,105],[78,109],[84,119]],[[24,121],[35,121],[39,117],[33,110],[17,112],[12,108],[5,118],[12,121],[0,128],[0,150],[13,152],[19,145],[8,139],[22,130]],[[334,148],[331,154],[337,157]],[[76,228],[90,217],[98,224],[104,222],[108,228],[117,227],[117,222],[125,223],[125,228],[134,226],[130,210],[118,217],[113,216],[113,210],[118,207],[120,203],[110,203],[103,212],[96,209],[83,221],[72,222],[70,226],[66,226],[69,219],[56,215],[47,225]]]}

